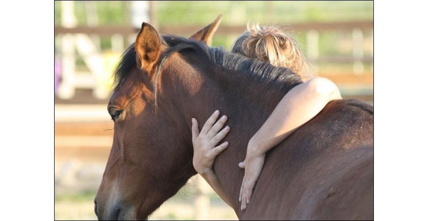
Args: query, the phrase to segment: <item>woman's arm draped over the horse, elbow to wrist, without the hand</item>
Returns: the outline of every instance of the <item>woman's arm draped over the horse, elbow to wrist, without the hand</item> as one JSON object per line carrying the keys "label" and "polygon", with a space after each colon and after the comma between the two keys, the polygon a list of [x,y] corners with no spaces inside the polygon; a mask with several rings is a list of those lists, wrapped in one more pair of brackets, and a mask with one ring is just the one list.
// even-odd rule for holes
{"label": "woman's arm draped over the horse, elbow to wrist, without the hand", "polygon": [[341,99],[336,84],[325,78],[315,78],[294,87],[251,138],[248,147],[259,154],[266,153],[336,99]]}

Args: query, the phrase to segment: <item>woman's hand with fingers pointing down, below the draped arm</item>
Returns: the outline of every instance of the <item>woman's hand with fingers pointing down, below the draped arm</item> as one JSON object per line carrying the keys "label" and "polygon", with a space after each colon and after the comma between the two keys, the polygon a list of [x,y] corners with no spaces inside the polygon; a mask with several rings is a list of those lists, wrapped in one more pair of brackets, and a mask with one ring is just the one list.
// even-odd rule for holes
{"label": "woman's hand with fingers pointing down, below the draped arm", "polygon": [[259,179],[265,163],[266,153],[259,153],[258,148],[248,143],[247,152],[244,162],[239,163],[239,167],[245,168],[245,175],[239,193],[239,201],[241,202],[241,210],[245,210],[246,204],[249,203],[253,193],[254,186]]}

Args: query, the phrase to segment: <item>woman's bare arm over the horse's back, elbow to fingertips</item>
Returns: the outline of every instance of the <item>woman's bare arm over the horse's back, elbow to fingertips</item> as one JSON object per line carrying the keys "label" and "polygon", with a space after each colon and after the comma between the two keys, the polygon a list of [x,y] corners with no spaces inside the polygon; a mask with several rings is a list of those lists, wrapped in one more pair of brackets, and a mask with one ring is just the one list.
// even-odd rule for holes
{"label": "woman's bare arm over the horse's back, elbow to fingertips", "polygon": [[299,84],[282,98],[248,142],[245,161],[239,164],[241,168],[245,168],[239,198],[241,209],[245,209],[249,203],[262,171],[266,152],[312,119],[328,102],[336,99],[341,99],[339,89],[326,78],[314,78]]}

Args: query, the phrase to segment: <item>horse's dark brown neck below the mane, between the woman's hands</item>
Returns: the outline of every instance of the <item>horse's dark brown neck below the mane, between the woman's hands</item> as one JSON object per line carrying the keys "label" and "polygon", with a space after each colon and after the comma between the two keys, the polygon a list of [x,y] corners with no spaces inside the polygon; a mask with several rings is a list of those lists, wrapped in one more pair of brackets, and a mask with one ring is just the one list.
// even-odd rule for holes
{"label": "horse's dark brown neck below the mane, between the woman's hands", "polygon": [[199,128],[202,128],[215,110],[228,116],[226,125],[231,130],[221,142],[228,141],[229,147],[215,158],[214,171],[238,214],[244,177],[244,170],[238,167],[238,163],[245,159],[249,139],[266,121],[286,91],[250,81],[245,75],[239,77],[227,73],[206,77],[204,82],[204,89],[190,99],[196,102],[192,106],[198,107],[198,111],[189,110],[195,115],[188,117],[196,117]]}

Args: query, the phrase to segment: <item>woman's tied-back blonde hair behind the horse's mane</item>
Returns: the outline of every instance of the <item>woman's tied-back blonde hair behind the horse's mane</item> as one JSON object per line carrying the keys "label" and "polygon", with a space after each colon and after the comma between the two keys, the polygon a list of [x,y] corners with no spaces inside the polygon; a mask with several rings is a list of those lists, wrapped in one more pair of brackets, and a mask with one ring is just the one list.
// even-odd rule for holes
{"label": "woman's tied-back blonde hair behind the horse's mane", "polygon": [[309,75],[309,63],[296,41],[279,27],[248,23],[232,52],[258,58],[277,67],[287,67],[302,78]]}

